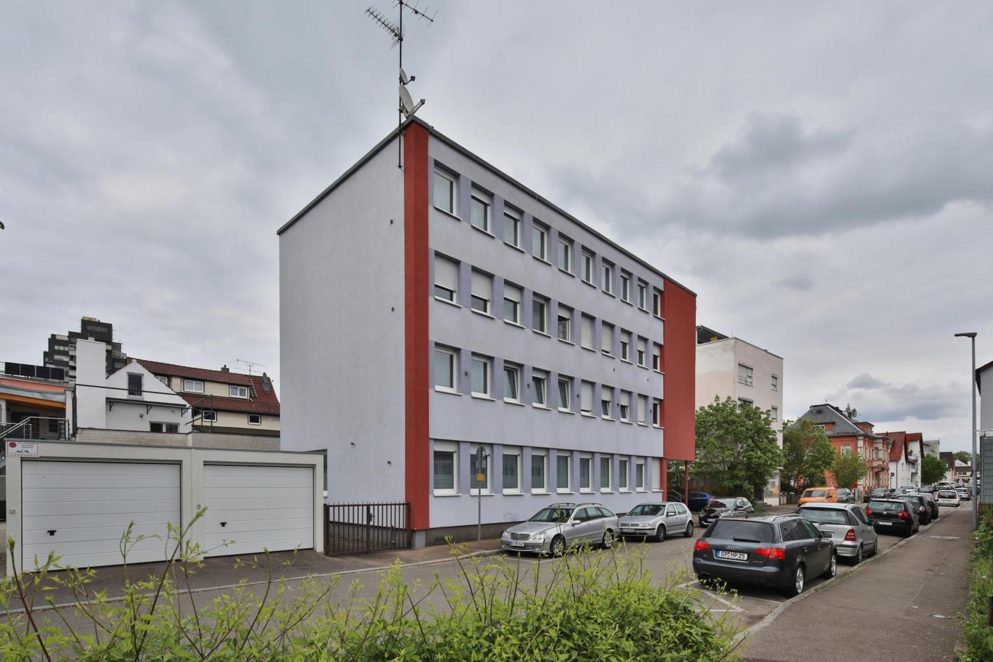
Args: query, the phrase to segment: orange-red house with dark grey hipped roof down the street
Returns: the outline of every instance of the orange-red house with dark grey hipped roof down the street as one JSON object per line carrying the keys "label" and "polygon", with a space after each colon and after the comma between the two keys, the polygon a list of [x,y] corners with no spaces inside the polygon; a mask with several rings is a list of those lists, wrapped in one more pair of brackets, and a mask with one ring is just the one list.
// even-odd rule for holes
{"label": "orange-red house with dark grey hipped roof down the street", "polygon": [[[829,403],[811,405],[800,418],[806,418],[824,430],[838,452],[855,452],[869,465],[869,473],[858,481],[860,490],[872,487],[894,487],[890,484],[890,449],[892,441],[873,431],[873,424],[858,420],[858,412],[850,407],[844,410]],[[824,479],[834,486],[830,473]]]}

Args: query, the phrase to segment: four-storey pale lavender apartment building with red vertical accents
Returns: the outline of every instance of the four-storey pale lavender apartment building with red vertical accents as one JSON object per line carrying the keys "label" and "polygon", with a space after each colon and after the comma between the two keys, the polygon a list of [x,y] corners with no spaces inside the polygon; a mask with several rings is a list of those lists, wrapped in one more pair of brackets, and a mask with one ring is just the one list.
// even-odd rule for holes
{"label": "four-storey pale lavender apartment building with red vertical accents", "polygon": [[[694,459],[695,294],[413,118],[279,230],[283,447],[414,545]],[[479,448],[486,461],[477,462]]]}

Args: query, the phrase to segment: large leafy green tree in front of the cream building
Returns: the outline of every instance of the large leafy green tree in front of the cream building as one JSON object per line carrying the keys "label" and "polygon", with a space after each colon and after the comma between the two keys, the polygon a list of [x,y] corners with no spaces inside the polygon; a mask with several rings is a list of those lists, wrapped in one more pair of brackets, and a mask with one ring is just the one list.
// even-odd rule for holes
{"label": "large leafy green tree in front of the cream building", "polygon": [[769,479],[782,464],[776,430],[769,414],[718,398],[696,413],[694,480],[729,492],[751,492],[763,498]]}

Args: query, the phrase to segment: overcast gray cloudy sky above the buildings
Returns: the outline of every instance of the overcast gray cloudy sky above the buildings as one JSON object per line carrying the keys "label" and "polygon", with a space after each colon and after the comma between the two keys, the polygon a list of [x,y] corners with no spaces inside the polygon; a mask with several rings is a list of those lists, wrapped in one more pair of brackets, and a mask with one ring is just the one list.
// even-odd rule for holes
{"label": "overcast gray cloudy sky above the buildings", "polygon": [[[365,6],[0,4],[0,360],[90,315],[133,356],[278,384],[275,231],[396,122]],[[421,115],[783,356],[787,416],[826,398],[968,445],[989,3],[432,7],[404,44]]]}

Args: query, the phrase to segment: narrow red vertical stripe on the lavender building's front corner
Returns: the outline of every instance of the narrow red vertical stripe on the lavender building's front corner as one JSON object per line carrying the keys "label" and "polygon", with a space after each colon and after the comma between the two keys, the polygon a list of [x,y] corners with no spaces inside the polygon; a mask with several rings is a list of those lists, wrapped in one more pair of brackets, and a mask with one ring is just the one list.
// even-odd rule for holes
{"label": "narrow red vertical stripe on the lavender building's front corner", "polygon": [[403,137],[404,493],[410,526],[429,526],[428,132],[411,123]]}

